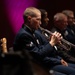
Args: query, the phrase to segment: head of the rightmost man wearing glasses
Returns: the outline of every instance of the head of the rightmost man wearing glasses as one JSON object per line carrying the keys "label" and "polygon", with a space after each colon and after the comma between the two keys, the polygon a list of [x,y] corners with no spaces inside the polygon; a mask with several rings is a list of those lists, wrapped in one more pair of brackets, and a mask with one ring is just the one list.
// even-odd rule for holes
{"label": "head of the rightmost man wearing glasses", "polygon": [[67,16],[68,24],[69,25],[73,25],[73,22],[74,22],[74,12],[71,11],[71,10],[63,10],[62,13]]}

